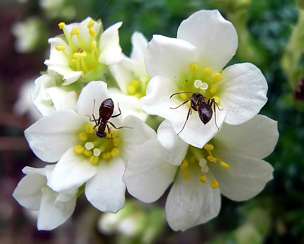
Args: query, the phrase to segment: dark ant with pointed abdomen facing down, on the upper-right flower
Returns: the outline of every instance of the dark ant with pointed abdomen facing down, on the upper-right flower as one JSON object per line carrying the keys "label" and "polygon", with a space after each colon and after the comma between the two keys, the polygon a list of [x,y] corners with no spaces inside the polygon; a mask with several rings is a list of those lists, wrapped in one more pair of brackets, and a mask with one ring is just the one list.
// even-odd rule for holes
{"label": "dark ant with pointed abdomen facing down, on the upper-right flower", "polygon": [[[187,93],[187,92],[174,93],[170,96],[170,98],[174,95],[181,94],[181,93]],[[213,113],[212,104],[213,104],[213,110],[214,110],[215,125],[216,125],[217,129],[219,130],[219,127],[216,124],[216,113],[215,113],[215,105],[217,106],[218,109],[219,109],[219,105],[217,105],[214,98],[208,98],[208,100],[206,102],[207,98],[205,98],[202,93],[199,93],[199,92],[195,92],[195,93],[189,92],[189,93],[192,93],[191,97],[181,104],[181,105],[184,105],[188,101],[191,101],[191,105],[190,105],[190,108],[189,108],[189,111],[188,111],[188,116],[187,116],[186,122],[184,124],[184,127],[181,129],[181,131],[185,128],[185,125],[188,121],[189,115],[192,113],[191,109],[193,109],[194,111],[199,112],[200,120],[204,124],[207,124],[212,118],[212,113]],[[181,105],[179,105],[178,107],[180,107]],[[176,108],[178,108],[178,107],[176,107]],[[171,109],[176,109],[176,108],[171,108]],[[219,109],[219,110],[223,110],[223,109]],[[181,133],[181,131],[178,132],[178,134]]]}

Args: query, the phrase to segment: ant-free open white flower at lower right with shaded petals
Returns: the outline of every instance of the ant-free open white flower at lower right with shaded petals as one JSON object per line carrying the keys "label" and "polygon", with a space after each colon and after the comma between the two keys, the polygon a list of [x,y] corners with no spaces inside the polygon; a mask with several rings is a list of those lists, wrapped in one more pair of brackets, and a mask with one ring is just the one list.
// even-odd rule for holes
{"label": "ant-free open white flower at lower right with shaded petals", "polygon": [[182,141],[168,120],[159,126],[157,138],[136,150],[123,182],[131,195],[153,202],[174,181],[166,202],[167,220],[174,230],[216,217],[220,193],[247,200],[272,179],[273,168],[262,159],[273,151],[278,130],[277,122],[266,116],[237,126],[224,124],[202,149]]}

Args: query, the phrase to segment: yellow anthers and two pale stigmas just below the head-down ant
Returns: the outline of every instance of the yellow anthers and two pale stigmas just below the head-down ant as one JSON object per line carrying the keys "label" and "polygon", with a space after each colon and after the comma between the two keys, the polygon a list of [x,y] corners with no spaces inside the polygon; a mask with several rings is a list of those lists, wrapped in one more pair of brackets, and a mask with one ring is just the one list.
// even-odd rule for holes
{"label": "yellow anthers and two pale stigmas just below the head-down ant", "polygon": [[[97,165],[100,158],[109,161],[112,157],[118,156],[120,145],[118,132],[112,127],[110,133],[107,130],[105,132],[106,138],[98,138],[92,124],[87,124],[84,131],[78,134],[81,143],[74,147],[74,152],[79,156],[87,157],[92,165]],[[111,136],[113,139],[110,139]]]}

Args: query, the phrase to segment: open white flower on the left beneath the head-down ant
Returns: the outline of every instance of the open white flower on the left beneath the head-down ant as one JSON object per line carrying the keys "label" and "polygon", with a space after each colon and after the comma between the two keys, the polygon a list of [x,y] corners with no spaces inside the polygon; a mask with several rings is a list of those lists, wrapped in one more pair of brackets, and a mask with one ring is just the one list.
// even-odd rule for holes
{"label": "open white flower on the left beneath the head-down ant", "polygon": [[[124,206],[126,186],[121,180],[126,162],[143,142],[156,137],[156,132],[134,116],[110,119],[116,127],[108,137],[98,138],[90,122],[95,99],[95,118],[99,106],[110,98],[107,84],[92,81],[82,89],[77,102],[77,113],[61,109],[38,120],[25,131],[33,152],[43,161],[57,162],[48,186],[58,192],[85,185],[87,199],[101,211],[117,212]],[[118,106],[114,101],[114,113]],[[122,111],[123,112],[123,111]],[[110,126],[111,127],[111,126]],[[92,148],[92,144],[94,148]],[[95,150],[96,149],[96,150]],[[94,153],[94,155],[93,155]]]}

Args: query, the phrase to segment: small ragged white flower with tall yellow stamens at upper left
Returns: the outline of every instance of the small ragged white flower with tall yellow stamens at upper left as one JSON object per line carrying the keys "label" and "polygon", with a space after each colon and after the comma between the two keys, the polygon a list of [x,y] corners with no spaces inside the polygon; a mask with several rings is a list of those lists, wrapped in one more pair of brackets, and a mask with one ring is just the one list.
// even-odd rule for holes
{"label": "small ragged white flower with tall yellow stamens at upper left", "polygon": [[63,75],[63,85],[69,85],[80,77],[86,81],[102,77],[107,65],[123,60],[119,46],[116,23],[103,31],[102,23],[87,18],[81,23],[59,23],[64,36],[49,39],[50,59],[45,61],[49,70]]}

